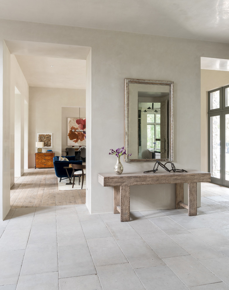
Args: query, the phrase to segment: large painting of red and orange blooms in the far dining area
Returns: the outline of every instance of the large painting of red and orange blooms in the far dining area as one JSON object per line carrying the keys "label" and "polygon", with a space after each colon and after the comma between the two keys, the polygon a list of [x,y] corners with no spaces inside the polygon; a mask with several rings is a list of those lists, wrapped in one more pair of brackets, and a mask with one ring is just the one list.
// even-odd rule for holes
{"label": "large painting of red and orange blooms in the far dining area", "polygon": [[[78,131],[76,130],[83,130]],[[85,131],[84,131],[85,130]],[[85,146],[86,145],[86,118],[67,118],[67,145]]]}

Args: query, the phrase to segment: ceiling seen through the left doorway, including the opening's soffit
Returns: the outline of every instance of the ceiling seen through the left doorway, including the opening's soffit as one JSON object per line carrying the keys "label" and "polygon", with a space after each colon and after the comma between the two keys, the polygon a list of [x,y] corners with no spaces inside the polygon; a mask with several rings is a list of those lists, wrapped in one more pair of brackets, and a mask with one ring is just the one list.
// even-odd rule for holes
{"label": "ceiling seen through the left doorway, including the opening's soffit", "polygon": [[90,47],[5,40],[29,86],[86,89]]}

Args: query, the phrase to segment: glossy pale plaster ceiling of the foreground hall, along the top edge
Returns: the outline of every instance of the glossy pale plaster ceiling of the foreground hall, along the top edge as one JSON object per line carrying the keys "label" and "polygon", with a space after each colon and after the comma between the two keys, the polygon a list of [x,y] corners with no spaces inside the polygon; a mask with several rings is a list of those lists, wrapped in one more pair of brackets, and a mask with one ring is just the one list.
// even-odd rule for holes
{"label": "glossy pale plaster ceiling of the foreground hall, along the top edge", "polygon": [[229,43],[228,0],[1,0],[0,18]]}

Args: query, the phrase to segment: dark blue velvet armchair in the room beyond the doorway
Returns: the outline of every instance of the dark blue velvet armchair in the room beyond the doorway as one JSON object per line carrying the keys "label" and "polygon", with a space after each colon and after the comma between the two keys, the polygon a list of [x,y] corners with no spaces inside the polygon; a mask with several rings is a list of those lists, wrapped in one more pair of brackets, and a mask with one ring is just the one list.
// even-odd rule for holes
{"label": "dark blue velvet armchair in the room beyond the doorway", "polygon": [[[65,156],[63,156],[63,157],[65,157]],[[53,157],[53,165],[54,165],[55,173],[56,173],[57,177],[60,178],[60,182],[61,182],[61,179],[68,178],[66,169],[64,167],[69,166],[69,164],[80,164],[80,165],[82,165],[82,163],[83,163],[81,160],[80,161],[76,161],[76,157],[75,156],[66,156],[66,158],[69,161],[59,161],[59,156]],[[68,170],[69,176],[71,176],[72,169],[69,168],[67,170]]]}

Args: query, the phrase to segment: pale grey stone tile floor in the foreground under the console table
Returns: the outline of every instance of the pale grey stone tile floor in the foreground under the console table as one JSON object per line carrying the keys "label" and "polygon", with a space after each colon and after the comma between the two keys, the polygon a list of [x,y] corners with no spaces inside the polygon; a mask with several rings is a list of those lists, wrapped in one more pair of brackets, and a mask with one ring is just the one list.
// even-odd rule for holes
{"label": "pale grey stone tile floor in the foreground under the console table", "polygon": [[187,209],[90,215],[85,204],[13,208],[0,221],[0,290],[229,289],[229,188]]}

